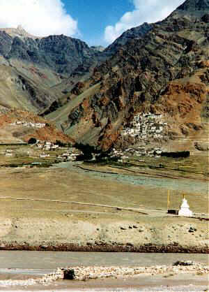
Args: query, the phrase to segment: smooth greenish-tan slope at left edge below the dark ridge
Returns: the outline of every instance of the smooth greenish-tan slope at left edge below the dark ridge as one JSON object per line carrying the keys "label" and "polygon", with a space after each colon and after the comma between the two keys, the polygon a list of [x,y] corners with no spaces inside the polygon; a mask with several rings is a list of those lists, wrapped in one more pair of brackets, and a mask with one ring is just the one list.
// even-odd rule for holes
{"label": "smooth greenish-tan slope at left edge below the dark ridge", "polygon": [[[56,94],[39,82],[44,78],[44,73],[35,67],[30,69],[33,75],[31,78],[26,73],[20,73],[15,67],[0,62],[0,106],[38,113],[56,100]],[[37,79],[35,74],[38,75]]]}

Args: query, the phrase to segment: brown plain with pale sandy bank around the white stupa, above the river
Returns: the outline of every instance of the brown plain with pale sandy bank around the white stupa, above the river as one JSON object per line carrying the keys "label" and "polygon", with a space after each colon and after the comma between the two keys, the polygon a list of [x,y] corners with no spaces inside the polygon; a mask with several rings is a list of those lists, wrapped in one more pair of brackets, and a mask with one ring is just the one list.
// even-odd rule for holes
{"label": "brown plain with pale sandy bank around the white stupa, above the river", "polygon": [[[194,218],[176,217],[160,187],[63,168],[0,171],[1,249],[208,252],[206,194],[187,194]],[[171,207],[181,200],[173,191]]]}

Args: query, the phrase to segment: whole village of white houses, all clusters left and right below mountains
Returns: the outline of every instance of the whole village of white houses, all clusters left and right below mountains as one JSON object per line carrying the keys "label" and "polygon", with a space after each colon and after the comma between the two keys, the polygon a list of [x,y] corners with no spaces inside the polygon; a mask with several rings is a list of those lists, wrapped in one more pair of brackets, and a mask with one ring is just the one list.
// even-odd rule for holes
{"label": "whole village of white houses, all clusters left and right below mountains", "polygon": [[[27,127],[33,129],[42,129],[46,126],[45,123],[31,122],[27,119],[16,120],[10,126]],[[132,140],[132,143],[123,148],[113,148],[108,154],[109,159],[117,159],[119,163],[125,163],[128,159],[140,159],[146,157],[160,157],[164,149],[160,143],[153,145],[150,141],[159,142],[168,136],[167,122],[164,121],[162,115],[153,113],[141,113],[134,116],[132,122],[123,128],[121,138]],[[131,145],[131,146],[130,146]],[[20,156],[26,156],[27,159],[33,160],[33,165],[36,163],[48,163],[49,161],[75,161],[77,156],[82,154],[75,147],[63,147],[59,143],[50,141],[36,140],[35,143],[24,147],[24,155],[21,154],[20,147],[4,147],[0,148],[0,155],[7,159],[17,159]],[[22,159],[23,160],[23,159]],[[96,159],[93,159],[96,160]]]}

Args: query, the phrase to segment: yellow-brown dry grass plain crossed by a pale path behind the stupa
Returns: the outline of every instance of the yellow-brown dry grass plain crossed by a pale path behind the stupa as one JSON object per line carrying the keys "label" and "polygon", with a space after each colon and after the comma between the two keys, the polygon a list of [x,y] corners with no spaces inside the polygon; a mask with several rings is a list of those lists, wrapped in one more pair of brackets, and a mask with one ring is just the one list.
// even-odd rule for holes
{"label": "yellow-brown dry grass plain crossed by a pale path behind the stupa", "polygon": [[[113,180],[102,180],[61,168],[15,168],[1,170],[1,196],[13,198],[34,198],[61,200],[80,203],[114,205],[118,207],[135,207],[151,210],[167,210],[167,189],[123,184]],[[187,194],[189,205],[194,212],[208,212],[207,196],[203,194]],[[182,192],[171,192],[170,207],[178,208],[182,201]],[[8,205],[9,204],[9,205]],[[8,208],[8,206],[10,206]],[[73,205],[67,203],[42,203],[31,201],[1,200],[1,214],[8,209],[24,213],[38,210],[52,212],[84,211],[126,214],[135,216],[133,212],[117,211],[107,207]],[[32,211],[33,212],[33,211]],[[37,211],[36,211],[37,212]],[[105,214],[106,213],[106,214]],[[137,214],[139,216],[139,214]]]}

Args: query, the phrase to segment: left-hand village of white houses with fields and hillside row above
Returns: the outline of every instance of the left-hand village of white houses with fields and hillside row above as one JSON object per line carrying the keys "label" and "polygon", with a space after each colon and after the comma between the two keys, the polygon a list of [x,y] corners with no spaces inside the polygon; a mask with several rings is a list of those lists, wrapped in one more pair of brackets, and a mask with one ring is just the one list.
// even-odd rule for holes
{"label": "left-hand village of white houses with fields and hillside row above", "polygon": [[[8,131],[11,129],[17,134],[27,129],[43,129],[47,126],[46,122],[37,122],[31,118],[13,119],[9,124]],[[32,133],[32,132],[31,132]],[[27,142],[16,139],[15,142],[0,143],[0,166],[47,166],[52,163],[63,161],[75,161],[81,151],[72,147],[69,143],[62,143],[60,140],[38,140],[31,137]]]}

